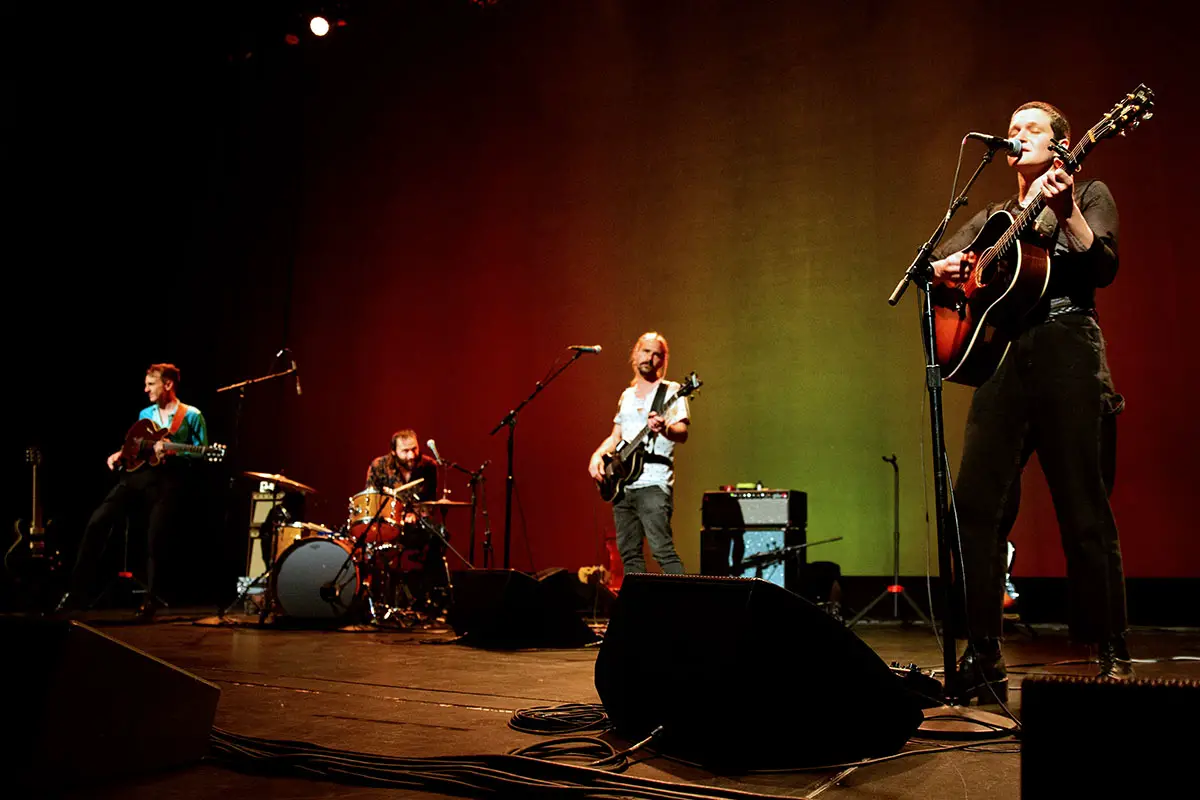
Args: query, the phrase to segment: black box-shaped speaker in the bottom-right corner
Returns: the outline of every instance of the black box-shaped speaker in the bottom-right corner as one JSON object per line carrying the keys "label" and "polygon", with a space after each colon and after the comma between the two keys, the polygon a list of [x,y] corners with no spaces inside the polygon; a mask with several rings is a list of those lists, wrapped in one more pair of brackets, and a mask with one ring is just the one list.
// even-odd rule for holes
{"label": "black box-shaped speaker in the bottom-right corner", "polygon": [[1021,799],[1172,796],[1193,778],[1200,681],[1021,681]]}

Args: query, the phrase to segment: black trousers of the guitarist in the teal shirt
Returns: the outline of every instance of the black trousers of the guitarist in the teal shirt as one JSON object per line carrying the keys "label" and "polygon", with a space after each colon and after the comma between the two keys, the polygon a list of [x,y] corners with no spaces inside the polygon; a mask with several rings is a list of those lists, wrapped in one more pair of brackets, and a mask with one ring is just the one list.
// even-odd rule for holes
{"label": "black trousers of the guitarist in the teal shirt", "polygon": [[77,603],[96,590],[96,572],[113,530],[131,534],[145,521],[146,565],[145,582],[151,596],[157,595],[156,560],[163,534],[179,522],[186,467],[143,467],[136,473],[122,474],[108,497],[92,512],[84,529],[74,570],[71,573],[71,596]]}

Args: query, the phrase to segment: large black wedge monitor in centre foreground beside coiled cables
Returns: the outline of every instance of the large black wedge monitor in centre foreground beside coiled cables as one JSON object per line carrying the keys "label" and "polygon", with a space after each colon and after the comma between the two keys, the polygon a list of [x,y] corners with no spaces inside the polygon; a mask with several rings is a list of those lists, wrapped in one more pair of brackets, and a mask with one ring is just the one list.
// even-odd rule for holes
{"label": "large black wedge monitor in centre foreground beside coiled cables", "polygon": [[626,576],[595,685],[622,735],[725,770],[886,756],[922,722],[862,639],[754,578]]}

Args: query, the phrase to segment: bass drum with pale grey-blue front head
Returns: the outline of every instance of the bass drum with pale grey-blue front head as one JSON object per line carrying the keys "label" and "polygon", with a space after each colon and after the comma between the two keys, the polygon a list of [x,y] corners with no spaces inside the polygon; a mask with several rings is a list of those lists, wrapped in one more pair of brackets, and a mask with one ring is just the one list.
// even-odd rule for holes
{"label": "bass drum with pale grey-blue front head", "polygon": [[298,619],[346,616],[362,585],[354,546],[331,536],[301,539],[283,551],[271,571],[275,602]]}

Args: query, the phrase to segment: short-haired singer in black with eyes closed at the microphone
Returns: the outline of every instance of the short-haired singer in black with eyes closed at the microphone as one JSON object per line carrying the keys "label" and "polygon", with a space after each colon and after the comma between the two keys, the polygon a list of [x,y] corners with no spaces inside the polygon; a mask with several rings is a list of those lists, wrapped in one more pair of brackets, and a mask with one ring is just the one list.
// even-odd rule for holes
{"label": "short-haired singer in black with eyes closed at the microphone", "polygon": [[[1070,633],[1098,646],[1099,676],[1133,674],[1124,633],[1126,595],[1117,527],[1109,506],[1116,414],[1123,401],[1112,387],[1104,337],[1097,321],[1096,290],[1117,272],[1117,210],[1100,181],[1075,181],[1050,145],[1070,137],[1054,106],[1025,103],[1012,116],[1008,136],[1019,152],[1008,155],[1016,194],[976,215],[935,254],[935,282],[954,287],[974,269],[966,248],[991,212],[1019,213],[1040,194],[1045,207],[1020,240],[1048,249],[1049,284],[1042,301],[1012,331],[1012,344],[996,372],[971,399],[962,464],[954,487],[961,527],[962,575],[955,600],[956,634],[967,639],[958,685],[960,702],[990,702],[1007,692],[1000,650],[1004,591],[1006,519],[1021,471],[1038,453],[1058,517],[1070,585]],[[1015,149],[1015,148],[1014,148]],[[1007,505],[1006,505],[1007,503]],[[965,583],[965,588],[964,584]]]}

